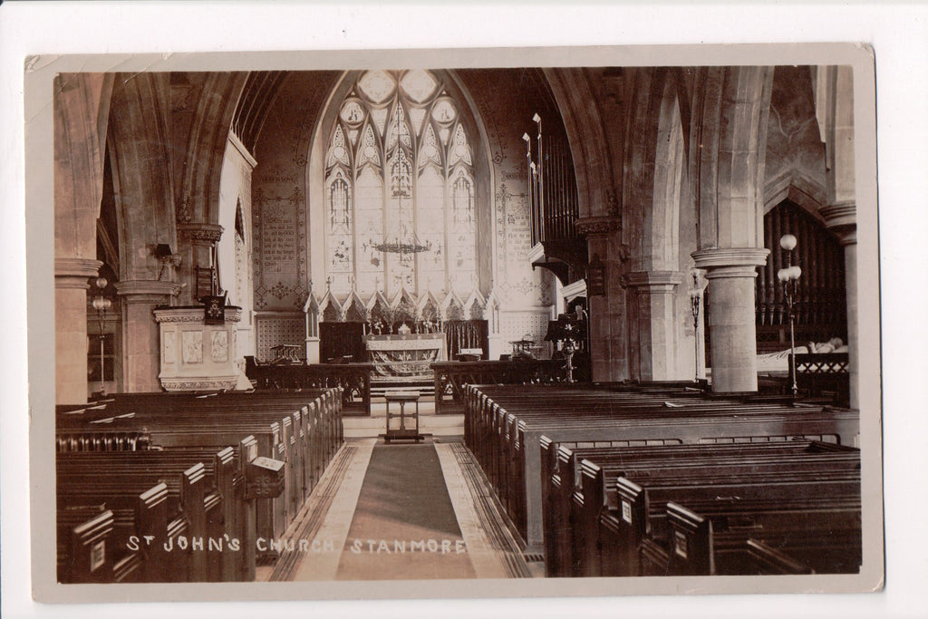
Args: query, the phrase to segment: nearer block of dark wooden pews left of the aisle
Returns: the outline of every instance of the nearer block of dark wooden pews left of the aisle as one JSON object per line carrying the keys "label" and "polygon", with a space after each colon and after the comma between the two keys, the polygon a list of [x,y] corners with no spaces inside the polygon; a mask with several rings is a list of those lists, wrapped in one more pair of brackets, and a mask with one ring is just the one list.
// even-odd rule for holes
{"label": "nearer block of dark wooden pews left of the aisle", "polygon": [[[250,442],[238,453],[253,453]],[[57,460],[61,582],[253,579],[254,555],[244,552],[254,544],[253,518],[249,529],[244,462],[232,447],[59,453]],[[88,510],[97,513],[82,522]]]}

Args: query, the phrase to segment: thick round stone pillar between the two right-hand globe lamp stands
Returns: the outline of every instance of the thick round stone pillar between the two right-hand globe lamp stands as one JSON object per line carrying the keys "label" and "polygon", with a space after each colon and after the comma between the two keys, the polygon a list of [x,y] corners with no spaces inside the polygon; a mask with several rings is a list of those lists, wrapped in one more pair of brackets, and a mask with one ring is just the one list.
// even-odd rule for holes
{"label": "thick round stone pillar between the two right-hand globe lamp stands", "polygon": [[754,314],[756,267],[767,263],[762,248],[694,251],[696,267],[709,280],[712,390],[757,391],[757,329]]}

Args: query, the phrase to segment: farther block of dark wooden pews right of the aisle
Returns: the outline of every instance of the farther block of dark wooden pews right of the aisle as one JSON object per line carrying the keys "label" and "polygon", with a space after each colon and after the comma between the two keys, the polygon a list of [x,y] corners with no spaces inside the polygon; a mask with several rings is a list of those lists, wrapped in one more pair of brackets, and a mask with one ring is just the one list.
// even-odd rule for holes
{"label": "farther block of dark wooden pews right of the aisle", "polygon": [[855,411],[706,399],[678,385],[626,392],[474,385],[465,402],[467,445],[530,552],[543,548],[542,435],[590,445],[785,441],[795,436],[853,444],[858,433]]}

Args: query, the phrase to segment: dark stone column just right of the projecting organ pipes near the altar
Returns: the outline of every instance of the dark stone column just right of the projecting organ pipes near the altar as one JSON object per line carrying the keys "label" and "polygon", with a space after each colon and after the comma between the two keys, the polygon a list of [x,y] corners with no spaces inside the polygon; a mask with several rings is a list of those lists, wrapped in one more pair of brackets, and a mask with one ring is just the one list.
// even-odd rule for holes
{"label": "dark stone column just right of the projecting organ pipes near the altar", "polygon": [[628,376],[625,355],[625,290],[619,278],[622,256],[621,220],[617,216],[583,217],[576,229],[586,236],[588,256],[599,255],[605,269],[606,294],[590,294],[589,339],[592,380],[624,380]]}

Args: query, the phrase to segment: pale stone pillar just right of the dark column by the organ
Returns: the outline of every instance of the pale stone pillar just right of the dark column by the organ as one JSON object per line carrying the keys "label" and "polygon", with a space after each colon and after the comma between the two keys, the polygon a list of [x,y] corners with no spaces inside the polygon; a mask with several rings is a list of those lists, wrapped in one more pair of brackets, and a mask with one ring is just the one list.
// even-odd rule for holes
{"label": "pale stone pillar just right of the dark column by the organ", "polygon": [[636,292],[638,315],[632,329],[638,332],[638,380],[673,380],[677,368],[677,311],[674,290],[683,281],[677,271],[638,271],[623,277],[625,287]]}

